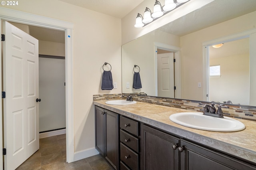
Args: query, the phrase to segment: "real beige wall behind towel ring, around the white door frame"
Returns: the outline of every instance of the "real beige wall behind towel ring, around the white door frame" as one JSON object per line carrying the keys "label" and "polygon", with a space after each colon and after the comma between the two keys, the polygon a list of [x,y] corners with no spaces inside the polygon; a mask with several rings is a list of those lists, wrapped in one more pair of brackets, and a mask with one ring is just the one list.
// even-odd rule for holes
{"label": "real beige wall behind towel ring, around the white door frame", "polygon": [[[121,93],[121,20],[58,0],[23,0],[3,6],[74,23],[74,147],[75,152],[94,148],[92,95]],[[102,65],[112,65],[117,89],[102,91]]]}

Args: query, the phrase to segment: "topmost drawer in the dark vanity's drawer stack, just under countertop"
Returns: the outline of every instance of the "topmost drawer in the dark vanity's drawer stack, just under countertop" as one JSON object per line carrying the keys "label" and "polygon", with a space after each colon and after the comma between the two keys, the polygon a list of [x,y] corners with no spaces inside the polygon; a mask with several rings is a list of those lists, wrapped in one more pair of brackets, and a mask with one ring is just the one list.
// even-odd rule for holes
{"label": "topmost drawer in the dark vanity's drawer stack, just under countertop", "polygon": [[132,121],[126,117],[120,117],[120,128],[125,129],[136,136],[139,136],[138,122]]}

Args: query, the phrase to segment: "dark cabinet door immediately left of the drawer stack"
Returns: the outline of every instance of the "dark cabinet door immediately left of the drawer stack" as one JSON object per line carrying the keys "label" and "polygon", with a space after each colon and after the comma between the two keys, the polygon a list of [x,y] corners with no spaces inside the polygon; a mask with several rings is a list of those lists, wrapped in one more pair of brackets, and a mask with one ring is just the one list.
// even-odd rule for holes
{"label": "dark cabinet door immediately left of the drawer stack", "polygon": [[115,169],[118,169],[118,146],[119,146],[119,126],[118,126],[118,115],[116,113],[106,111],[106,160]]}

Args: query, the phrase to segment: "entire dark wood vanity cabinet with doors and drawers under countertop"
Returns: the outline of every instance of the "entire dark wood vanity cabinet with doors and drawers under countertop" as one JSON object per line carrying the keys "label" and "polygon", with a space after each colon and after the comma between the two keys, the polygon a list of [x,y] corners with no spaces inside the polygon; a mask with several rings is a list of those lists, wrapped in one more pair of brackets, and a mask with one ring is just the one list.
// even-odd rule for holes
{"label": "entire dark wood vanity cabinet with doors and drawers under countertop", "polygon": [[96,148],[116,170],[256,170],[255,164],[97,106],[95,121]]}

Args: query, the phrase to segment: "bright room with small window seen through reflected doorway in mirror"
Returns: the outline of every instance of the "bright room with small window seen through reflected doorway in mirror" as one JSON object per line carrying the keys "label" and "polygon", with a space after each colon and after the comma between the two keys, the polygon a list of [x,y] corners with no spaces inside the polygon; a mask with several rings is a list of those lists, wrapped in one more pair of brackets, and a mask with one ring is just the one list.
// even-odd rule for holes
{"label": "bright room with small window seen through reflected doorway in mirror", "polygon": [[249,38],[209,48],[209,101],[249,105]]}

